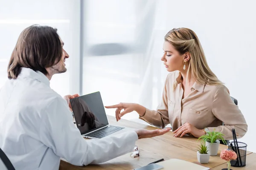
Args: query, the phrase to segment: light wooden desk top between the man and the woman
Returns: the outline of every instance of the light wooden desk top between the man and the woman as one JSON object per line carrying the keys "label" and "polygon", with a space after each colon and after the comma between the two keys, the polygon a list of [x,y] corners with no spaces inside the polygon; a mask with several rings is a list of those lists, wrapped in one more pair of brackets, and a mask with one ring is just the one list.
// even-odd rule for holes
{"label": "light wooden desk top between the man and the woman", "polygon": [[[148,130],[156,129],[156,127],[143,125],[125,119],[121,119],[119,122],[116,122],[116,119],[113,116],[108,116],[108,121],[111,125],[132,127],[137,129],[143,128]],[[148,163],[162,158],[165,160],[172,158],[183,159],[185,161],[200,164],[197,160],[197,150],[199,144],[200,141],[197,141],[196,138],[192,138],[190,136],[175,138],[170,131],[163,136],[139,139],[136,142],[136,145],[139,148],[140,156],[137,158],[131,158],[130,153],[127,153],[102,164],[87,165],[84,167],[74,166],[61,160],[60,170],[131,170],[145,166]],[[213,168],[226,164],[226,161],[219,157],[221,150],[226,148],[227,146],[220,144],[218,155],[210,156],[209,163],[201,165]],[[251,152],[247,151],[247,154],[250,153]],[[248,161],[248,165],[245,168],[250,167],[249,164],[250,162]]]}

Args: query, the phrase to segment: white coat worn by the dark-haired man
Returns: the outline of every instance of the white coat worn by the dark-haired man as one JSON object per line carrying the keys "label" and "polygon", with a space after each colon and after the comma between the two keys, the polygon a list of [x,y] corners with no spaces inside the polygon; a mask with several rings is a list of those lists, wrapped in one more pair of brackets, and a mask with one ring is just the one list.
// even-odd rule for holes
{"label": "white coat worn by the dark-haired man", "polygon": [[85,140],[73,124],[67,102],[41,72],[22,68],[0,90],[0,148],[16,170],[58,170],[60,158],[82,166],[130,152],[134,131]]}

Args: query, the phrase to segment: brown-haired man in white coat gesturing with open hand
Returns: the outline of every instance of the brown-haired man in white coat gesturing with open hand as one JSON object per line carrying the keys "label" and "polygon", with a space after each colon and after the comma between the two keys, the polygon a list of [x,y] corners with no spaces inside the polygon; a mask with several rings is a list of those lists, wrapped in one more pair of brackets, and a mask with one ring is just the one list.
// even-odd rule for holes
{"label": "brown-haired man in white coat gesturing with open hand", "polygon": [[74,165],[96,164],[128,153],[135,141],[170,129],[136,130],[84,140],[63,99],[49,87],[69,58],[57,29],[33,25],[22,31],[0,90],[0,148],[16,170],[58,170],[60,158]]}

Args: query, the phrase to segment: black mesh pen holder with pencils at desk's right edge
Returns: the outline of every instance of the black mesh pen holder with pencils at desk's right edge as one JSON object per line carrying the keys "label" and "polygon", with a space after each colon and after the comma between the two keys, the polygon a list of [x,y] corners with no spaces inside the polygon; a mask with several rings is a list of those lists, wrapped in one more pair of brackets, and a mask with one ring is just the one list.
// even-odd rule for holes
{"label": "black mesh pen holder with pencils at desk's right edge", "polygon": [[228,148],[233,150],[237,154],[236,160],[231,160],[230,164],[232,167],[244,167],[246,163],[246,148],[247,144],[243,142],[237,142],[237,146],[234,142],[228,144]]}

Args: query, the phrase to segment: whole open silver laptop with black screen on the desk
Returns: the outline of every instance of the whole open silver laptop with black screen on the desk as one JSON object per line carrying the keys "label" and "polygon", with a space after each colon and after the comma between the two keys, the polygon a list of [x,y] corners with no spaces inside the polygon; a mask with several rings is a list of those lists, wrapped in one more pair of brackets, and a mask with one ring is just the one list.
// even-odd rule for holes
{"label": "whole open silver laptop with black screen on the desk", "polygon": [[101,139],[131,128],[108,124],[100,92],[70,99],[76,126],[84,138]]}

